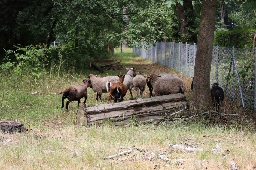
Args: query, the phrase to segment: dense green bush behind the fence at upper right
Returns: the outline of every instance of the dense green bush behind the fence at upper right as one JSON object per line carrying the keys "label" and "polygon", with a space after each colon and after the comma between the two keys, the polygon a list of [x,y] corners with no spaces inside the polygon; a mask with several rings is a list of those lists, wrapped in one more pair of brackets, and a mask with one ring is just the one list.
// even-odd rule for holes
{"label": "dense green bush behind the fence at upper right", "polygon": [[221,47],[252,48],[253,34],[256,28],[234,29],[231,31],[215,31],[213,45]]}

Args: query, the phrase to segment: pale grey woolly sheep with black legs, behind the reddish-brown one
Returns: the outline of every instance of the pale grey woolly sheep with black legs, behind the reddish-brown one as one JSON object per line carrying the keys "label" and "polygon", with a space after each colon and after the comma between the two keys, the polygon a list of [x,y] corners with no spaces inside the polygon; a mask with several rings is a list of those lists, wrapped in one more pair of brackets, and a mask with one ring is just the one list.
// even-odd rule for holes
{"label": "pale grey woolly sheep with black legs, behind the reddish-brown one", "polygon": [[102,93],[107,93],[108,92],[107,88],[106,88],[106,82],[110,78],[114,78],[114,77],[116,77],[116,76],[97,77],[96,75],[93,75],[93,74],[90,74],[88,76],[88,78],[92,82],[92,89],[93,89],[93,91],[97,93],[97,97],[96,97],[97,101],[98,101],[98,97],[99,97],[99,100],[102,101],[101,100]]}

